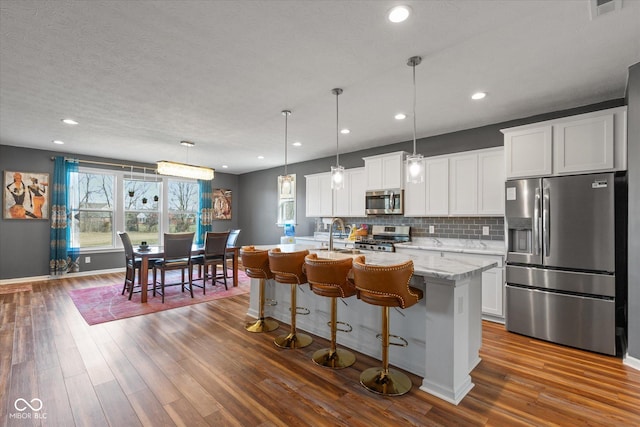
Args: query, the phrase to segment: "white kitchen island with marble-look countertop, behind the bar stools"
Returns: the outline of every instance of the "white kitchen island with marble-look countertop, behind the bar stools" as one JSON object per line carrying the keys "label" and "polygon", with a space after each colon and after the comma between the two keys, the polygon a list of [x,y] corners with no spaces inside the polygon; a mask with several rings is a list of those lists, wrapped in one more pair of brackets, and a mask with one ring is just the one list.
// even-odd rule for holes
{"label": "white kitchen island with marble-look countertop, behind the bar stools", "polygon": [[[329,252],[307,245],[256,246],[258,249],[279,247],[283,252],[308,249],[321,258],[355,257],[356,254]],[[367,264],[392,265],[409,259],[414,263],[412,286],[424,291],[425,297],[412,307],[390,312],[391,333],[408,341],[407,347],[391,346],[392,365],[423,378],[421,390],[458,404],[473,388],[469,373],[480,362],[482,343],[481,299],[482,271],[495,262],[448,259],[429,255],[407,255],[362,251]],[[251,281],[251,302],[248,314],[257,317],[258,281]],[[290,319],[290,288],[270,283],[266,298],[277,305],[266,308],[265,315],[281,322]],[[355,351],[381,358],[376,335],[380,333],[379,307],[359,301],[355,296],[338,304],[338,320],[353,327],[349,334],[339,333],[338,344]],[[297,305],[310,314],[297,317],[297,328],[329,338],[330,307],[328,298],[316,296],[308,285],[299,288]]]}

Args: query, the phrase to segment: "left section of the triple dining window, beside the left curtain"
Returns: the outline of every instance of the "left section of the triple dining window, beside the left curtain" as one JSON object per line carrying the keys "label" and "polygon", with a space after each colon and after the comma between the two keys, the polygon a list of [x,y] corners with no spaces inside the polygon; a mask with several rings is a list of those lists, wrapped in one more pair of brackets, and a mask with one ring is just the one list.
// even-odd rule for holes
{"label": "left section of the triple dining window, beside the left curtain", "polygon": [[[76,179],[73,179],[76,178]],[[115,174],[107,172],[79,172],[71,182],[73,221],[72,239],[81,248],[113,246],[115,219]]]}

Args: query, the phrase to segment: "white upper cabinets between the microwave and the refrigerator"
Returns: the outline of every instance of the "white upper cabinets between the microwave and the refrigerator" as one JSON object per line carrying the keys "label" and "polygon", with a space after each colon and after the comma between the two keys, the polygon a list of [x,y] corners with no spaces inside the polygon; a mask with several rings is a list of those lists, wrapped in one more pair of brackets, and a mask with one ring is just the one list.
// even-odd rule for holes
{"label": "white upper cabinets between the microwave and the refrigerator", "polygon": [[405,216],[504,215],[504,149],[427,157],[425,181],[406,184]]}

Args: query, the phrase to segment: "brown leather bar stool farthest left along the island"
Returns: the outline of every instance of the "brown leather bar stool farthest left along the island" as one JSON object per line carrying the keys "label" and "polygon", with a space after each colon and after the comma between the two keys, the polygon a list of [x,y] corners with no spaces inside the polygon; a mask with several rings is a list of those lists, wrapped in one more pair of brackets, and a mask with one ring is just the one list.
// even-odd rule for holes
{"label": "brown leather bar stool farthest left along the island", "polygon": [[243,246],[240,248],[240,259],[242,259],[247,276],[252,279],[260,279],[258,320],[247,323],[244,328],[249,332],[270,332],[278,329],[280,326],[278,322],[264,318],[264,282],[273,279],[273,273],[269,269],[269,251],[256,250],[255,246]]}

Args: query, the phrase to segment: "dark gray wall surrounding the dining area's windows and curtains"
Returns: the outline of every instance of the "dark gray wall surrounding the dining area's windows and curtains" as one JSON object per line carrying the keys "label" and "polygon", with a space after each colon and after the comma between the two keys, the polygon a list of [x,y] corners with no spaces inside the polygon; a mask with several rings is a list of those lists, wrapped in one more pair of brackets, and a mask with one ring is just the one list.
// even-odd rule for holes
{"label": "dark gray wall surrounding the dining area's windows and curtains", "polygon": [[[53,151],[32,150],[28,148],[0,145],[0,170],[17,170],[27,172],[48,173],[53,177],[52,156],[67,155]],[[131,162],[117,159],[102,159],[96,157],[81,157],[84,160],[97,160],[112,163]],[[140,164],[148,168],[155,168],[152,164]],[[216,221],[214,231],[224,231],[238,228],[237,199],[238,177],[236,175],[216,172],[214,188],[225,188],[233,191],[232,219]],[[4,194],[4,192],[3,192]],[[0,219],[0,280],[19,277],[44,276],[49,274],[49,221],[45,220],[5,220]],[[122,252],[92,252],[91,263],[85,264],[85,255],[80,257],[80,270],[105,270],[121,268]]]}

